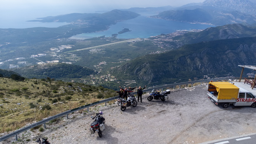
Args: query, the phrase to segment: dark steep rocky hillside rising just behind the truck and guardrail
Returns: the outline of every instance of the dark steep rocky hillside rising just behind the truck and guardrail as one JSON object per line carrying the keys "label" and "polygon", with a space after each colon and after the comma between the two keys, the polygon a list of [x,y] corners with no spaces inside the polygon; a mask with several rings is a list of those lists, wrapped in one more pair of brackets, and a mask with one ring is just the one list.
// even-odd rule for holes
{"label": "dark steep rocky hillside rising just behind the truck and guardrail", "polygon": [[239,76],[238,65],[255,65],[256,37],[215,40],[184,45],[178,50],[149,54],[112,73],[139,83],[163,84],[177,80]]}

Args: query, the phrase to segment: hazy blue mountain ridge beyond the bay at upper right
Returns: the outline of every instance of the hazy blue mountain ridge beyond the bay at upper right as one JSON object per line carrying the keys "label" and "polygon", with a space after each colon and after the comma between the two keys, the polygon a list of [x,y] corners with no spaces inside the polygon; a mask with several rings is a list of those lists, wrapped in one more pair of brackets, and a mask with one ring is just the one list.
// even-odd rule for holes
{"label": "hazy blue mountain ridge beyond the bay at upper right", "polygon": [[184,5],[151,17],[218,26],[234,23],[255,24],[254,7],[256,4],[249,0],[206,0],[198,5]]}

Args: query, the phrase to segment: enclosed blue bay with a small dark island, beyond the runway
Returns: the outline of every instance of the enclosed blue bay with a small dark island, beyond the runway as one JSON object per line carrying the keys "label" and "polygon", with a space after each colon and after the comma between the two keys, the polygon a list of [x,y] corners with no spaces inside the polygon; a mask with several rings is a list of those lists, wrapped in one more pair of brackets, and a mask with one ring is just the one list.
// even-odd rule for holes
{"label": "enclosed blue bay with a small dark island, beyond the runway", "polygon": [[[164,19],[156,19],[146,16],[139,16],[135,19],[118,22],[111,25],[108,30],[95,33],[82,33],[74,35],[73,39],[88,39],[100,36],[111,37],[112,34],[117,34],[117,38],[149,38],[151,36],[173,33],[179,30],[206,29],[215,27],[210,24],[191,24],[187,22],[170,21]],[[118,34],[124,28],[130,31]]]}

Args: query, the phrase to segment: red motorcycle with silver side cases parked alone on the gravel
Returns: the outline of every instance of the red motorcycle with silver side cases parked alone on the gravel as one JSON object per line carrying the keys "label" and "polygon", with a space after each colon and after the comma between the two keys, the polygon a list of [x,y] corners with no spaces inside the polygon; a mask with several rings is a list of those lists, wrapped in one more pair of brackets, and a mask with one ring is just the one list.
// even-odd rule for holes
{"label": "red motorcycle with silver side cases parked alone on the gravel", "polygon": [[100,111],[99,113],[96,113],[96,116],[92,117],[92,119],[95,120],[91,123],[90,128],[91,134],[98,132],[99,137],[102,137],[102,131],[105,130],[105,118],[103,118],[102,115],[103,112]]}

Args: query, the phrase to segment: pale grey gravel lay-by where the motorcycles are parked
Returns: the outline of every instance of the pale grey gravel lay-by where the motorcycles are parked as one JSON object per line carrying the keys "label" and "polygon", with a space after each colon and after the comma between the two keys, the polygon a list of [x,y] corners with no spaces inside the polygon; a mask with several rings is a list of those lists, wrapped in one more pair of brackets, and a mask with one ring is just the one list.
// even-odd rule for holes
{"label": "pale grey gravel lay-by where the motorcycles are parked", "polygon": [[[165,102],[148,101],[147,92],[142,103],[126,111],[117,104],[95,106],[90,112],[78,111],[69,119],[46,125],[44,132],[23,132],[22,142],[15,142],[15,137],[9,141],[36,144],[36,138],[47,137],[51,144],[199,144],[256,132],[255,108],[231,105],[223,109],[208,99],[206,91],[206,86],[171,90]],[[89,131],[90,117],[98,111],[106,119],[102,138]]]}

